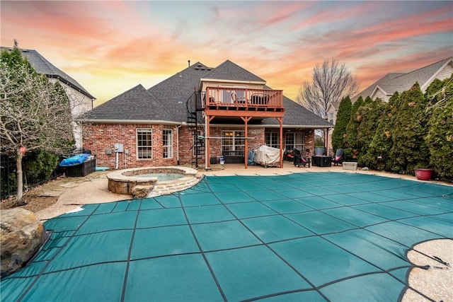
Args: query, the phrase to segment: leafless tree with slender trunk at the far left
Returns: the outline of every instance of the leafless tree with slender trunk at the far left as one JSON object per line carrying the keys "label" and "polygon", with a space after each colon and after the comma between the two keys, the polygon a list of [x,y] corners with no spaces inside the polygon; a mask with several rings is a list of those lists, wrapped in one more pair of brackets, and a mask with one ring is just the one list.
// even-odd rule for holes
{"label": "leafless tree with slender trunk at the far left", "polygon": [[20,202],[25,151],[66,153],[73,148],[71,108],[62,86],[36,74],[18,50],[1,54],[0,83],[0,150],[16,156]]}

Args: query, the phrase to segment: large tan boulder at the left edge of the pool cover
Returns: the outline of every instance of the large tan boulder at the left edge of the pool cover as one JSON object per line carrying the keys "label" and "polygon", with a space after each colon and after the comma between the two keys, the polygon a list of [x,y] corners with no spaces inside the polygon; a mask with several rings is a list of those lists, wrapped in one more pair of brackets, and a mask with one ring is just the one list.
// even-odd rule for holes
{"label": "large tan boulder at the left edge of the pool cover", "polygon": [[1,211],[1,277],[21,269],[45,242],[47,233],[32,211],[14,208]]}

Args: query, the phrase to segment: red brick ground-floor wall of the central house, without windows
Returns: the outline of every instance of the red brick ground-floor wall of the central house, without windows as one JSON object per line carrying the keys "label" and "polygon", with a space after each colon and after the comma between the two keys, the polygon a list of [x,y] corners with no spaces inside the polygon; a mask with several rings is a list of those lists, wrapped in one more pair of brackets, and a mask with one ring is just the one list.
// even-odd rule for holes
{"label": "red brick ground-floor wall of the central house, without windows", "polygon": [[[137,129],[152,129],[153,158],[137,158]],[[173,129],[173,156],[171,158],[163,158],[163,129]],[[241,129],[233,127],[212,127],[210,129],[210,137],[222,137],[222,130]],[[292,130],[294,132],[294,129]],[[286,132],[287,130],[285,129],[283,133],[284,142]],[[177,142],[178,134],[179,146]],[[305,130],[304,135],[306,148],[309,148],[311,153],[313,153],[314,130]],[[248,137],[253,137],[253,139],[248,140],[248,149],[258,149],[259,146],[265,144],[264,127],[249,128]],[[193,146],[192,131],[187,127],[180,127],[178,130],[175,125],[162,124],[86,124],[84,125],[83,142],[84,149],[91,150],[91,153],[96,155],[96,165],[100,167],[115,168],[115,144],[122,144],[125,151],[118,153],[119,169],[178,165],[178,149],[180,164],[190,164],[192,161],[195,161],[191,150]],[[111,151],[110,154],[108,154],[108,150]],[[216,156],[222,156],[222,139],[210,139],[210,157]],[[198,163],[205,163],[204,156]]]}

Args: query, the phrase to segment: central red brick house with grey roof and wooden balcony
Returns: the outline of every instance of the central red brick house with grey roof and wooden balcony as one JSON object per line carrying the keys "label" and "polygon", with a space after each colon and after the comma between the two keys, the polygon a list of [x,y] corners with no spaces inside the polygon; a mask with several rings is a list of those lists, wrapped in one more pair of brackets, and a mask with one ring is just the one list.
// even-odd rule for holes
{"label": "central red brick house with grey roof and wooden balcony", "polygon": [[313,153],[314,129],[332,124],[265,84],[228,60],[216,68],[189,64],[156,86],[135,86],[87,112],[84,149],[109,168],[210,168],[220,156],[247,165],[248,151],[264,144]]}

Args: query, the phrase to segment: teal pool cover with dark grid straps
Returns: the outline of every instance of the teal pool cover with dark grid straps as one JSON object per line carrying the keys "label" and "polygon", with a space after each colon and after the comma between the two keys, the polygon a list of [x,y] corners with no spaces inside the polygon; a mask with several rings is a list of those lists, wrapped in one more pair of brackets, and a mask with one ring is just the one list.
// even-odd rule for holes
{"label": "teal pool cover with dark grid straps", "polygon": [[[46,221],[2,301],[398,301],[453,187],[358,173],[210,176]],[[428,299],[429,300],[429,299]]]}

